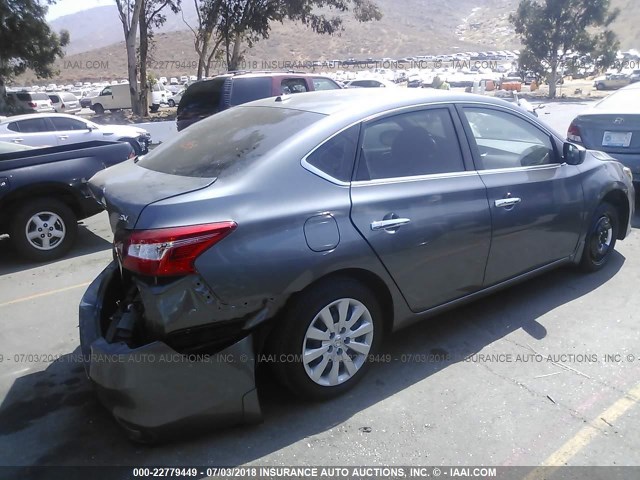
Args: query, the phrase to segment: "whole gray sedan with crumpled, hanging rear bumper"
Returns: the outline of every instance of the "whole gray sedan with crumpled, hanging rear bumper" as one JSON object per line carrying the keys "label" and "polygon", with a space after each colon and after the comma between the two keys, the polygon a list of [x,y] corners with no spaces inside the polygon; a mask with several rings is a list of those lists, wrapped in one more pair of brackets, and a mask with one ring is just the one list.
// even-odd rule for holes
{"label": "whole gray sedan with crumpled, hanging rear bumper", "polygon": [[515,105],[358,89],[260,100],[91,181],[114,262],[80,305],[88,375],[137,440],[260,419],[256,367],[306,399],[383,337],[630,232],[628,169]]}

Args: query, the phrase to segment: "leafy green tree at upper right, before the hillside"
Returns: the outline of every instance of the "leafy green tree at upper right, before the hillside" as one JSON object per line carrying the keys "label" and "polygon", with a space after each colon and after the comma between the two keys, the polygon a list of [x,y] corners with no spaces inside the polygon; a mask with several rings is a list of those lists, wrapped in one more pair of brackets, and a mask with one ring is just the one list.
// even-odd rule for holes
{"label": "leafy green tree at upper right, before the hillside", "polygon": [[618,16],[610,0],[521,0],[509,20],[524,45],[521,67],[546,77],[549,97],[556,96],[561,60],[568,51],[612,58],[619,43],[606,27]]}

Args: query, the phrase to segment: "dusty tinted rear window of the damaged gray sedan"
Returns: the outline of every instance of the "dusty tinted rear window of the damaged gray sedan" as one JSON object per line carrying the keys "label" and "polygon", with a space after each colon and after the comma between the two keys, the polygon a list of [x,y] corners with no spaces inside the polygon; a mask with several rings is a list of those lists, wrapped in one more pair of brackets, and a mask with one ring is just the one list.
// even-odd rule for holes
{"label": "dusty tinted rear window of the damaged gray sedan", "polygon": [[258,161],[323,115],[271,107],[238,107],[209,117],[163,143],[138,165],[187,177],[230,175]]}

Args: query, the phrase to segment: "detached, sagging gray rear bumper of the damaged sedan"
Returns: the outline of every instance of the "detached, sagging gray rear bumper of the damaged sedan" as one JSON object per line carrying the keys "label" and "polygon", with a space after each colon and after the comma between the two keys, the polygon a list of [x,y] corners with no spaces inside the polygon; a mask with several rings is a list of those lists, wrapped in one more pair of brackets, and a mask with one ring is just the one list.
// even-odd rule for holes
{"label": "detached, sagging gray rear bumper of the damaged sedan", "polygon": [[80,303],[80,344],[101,402],[129,435],[154,441],[185,429],[260,421],[252,336],[197,355],[161,341],[136,348],[108,343],[101,319],[118,278],[112,263],[87,289]]}

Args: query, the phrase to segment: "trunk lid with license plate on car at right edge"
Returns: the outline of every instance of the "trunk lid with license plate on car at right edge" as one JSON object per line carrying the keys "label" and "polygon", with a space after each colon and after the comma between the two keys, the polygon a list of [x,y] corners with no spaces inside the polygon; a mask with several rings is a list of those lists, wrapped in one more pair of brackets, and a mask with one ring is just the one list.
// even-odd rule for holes
{"label": "trunk lid with license plate on car at right edge", "polygon": [[608,153],[640,153],[640,115],[599,113],[576,120],[585,147]]}

